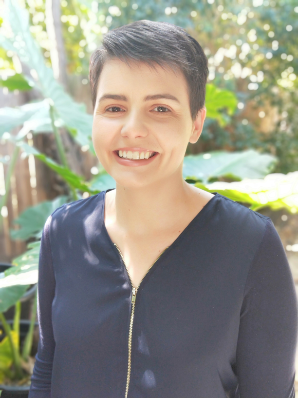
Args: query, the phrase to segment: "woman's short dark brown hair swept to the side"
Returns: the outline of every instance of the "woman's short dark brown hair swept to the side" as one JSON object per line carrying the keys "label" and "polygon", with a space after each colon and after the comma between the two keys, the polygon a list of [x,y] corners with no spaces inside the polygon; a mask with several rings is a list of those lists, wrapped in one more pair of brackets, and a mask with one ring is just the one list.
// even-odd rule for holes
{"label": "woman's short dark brown hair swept to the side", "polygon": [[170,66],[180,69],[188,85],[192,120],[205,105],[208,60],[200,44],[184,29],[168,22],[138,20],[110,30],[101,47],[90,59],[90,84],[93,107],[96,102],[98,80],[107,60],[120,59],[145,62],[154,67]]}

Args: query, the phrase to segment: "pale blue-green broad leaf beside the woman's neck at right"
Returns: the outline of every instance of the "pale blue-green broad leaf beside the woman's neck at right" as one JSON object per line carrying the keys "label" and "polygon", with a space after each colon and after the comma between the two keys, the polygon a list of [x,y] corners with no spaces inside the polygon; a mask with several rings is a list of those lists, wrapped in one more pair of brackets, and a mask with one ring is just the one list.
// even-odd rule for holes
{"label": "pale blue-green broad leaf beside the woman's neck at right", "polygon": [[210,179],[227,177],[234,180],[263,178],[273,171],[277,159],[254,150],[242,152],[213,151],[188,155],[183,162],[184,179],[207,183]]}

